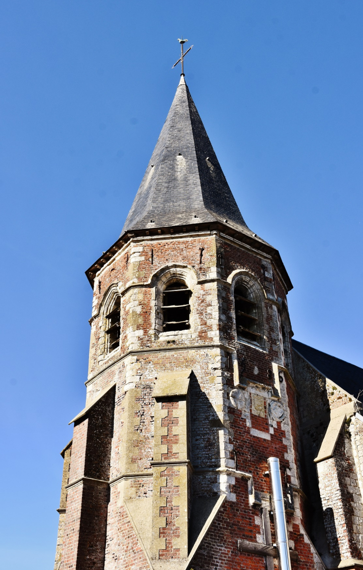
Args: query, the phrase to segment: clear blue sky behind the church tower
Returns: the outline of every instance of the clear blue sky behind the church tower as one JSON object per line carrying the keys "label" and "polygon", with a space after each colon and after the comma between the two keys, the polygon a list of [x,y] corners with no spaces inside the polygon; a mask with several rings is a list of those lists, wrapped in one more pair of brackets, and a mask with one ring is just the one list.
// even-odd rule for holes
{"label": "clear blue sky behind the church tower", "polygon": [[92,290],[179,80],[248,226],[292,279],[295,338],[363,367],[361,0],[2,0],[0,565],[52,568]]}

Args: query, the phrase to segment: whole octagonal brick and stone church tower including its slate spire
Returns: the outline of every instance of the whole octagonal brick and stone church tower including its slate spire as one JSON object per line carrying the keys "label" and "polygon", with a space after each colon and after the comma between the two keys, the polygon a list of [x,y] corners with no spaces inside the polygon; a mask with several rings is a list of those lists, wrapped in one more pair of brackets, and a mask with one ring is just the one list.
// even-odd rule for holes
{"label": "whole octagonal brick and stone church tower including its slate spire", "polygon": [[323,568],[304,527],[292,285],[244,222],[183,75],[121,236],[87,276],[55,568]]}

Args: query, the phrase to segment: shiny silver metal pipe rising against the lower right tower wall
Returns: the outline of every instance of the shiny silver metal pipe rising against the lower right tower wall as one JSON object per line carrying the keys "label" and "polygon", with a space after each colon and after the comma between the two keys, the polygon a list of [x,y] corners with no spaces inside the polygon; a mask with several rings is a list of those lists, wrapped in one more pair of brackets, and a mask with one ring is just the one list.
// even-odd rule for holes
{"label": "shiny silver metal pipe rising against the lower right tower wall", "polygon": [[269,457],[267,463],[272,487],[272,508],[274,509],[276,546],[280,557],[280,568],[281,570],[291,570],[280,462],[277,457]]}

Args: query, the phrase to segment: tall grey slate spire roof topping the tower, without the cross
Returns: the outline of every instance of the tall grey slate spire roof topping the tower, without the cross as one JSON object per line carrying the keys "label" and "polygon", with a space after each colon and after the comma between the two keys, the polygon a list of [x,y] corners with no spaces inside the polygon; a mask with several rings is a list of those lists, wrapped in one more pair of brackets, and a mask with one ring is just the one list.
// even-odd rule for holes
{"label": "tall grey slate spire roof topping the tower, without the cross", "polygon": [[222,222],[252,234],[242,218],[181,76],[123,231]]}

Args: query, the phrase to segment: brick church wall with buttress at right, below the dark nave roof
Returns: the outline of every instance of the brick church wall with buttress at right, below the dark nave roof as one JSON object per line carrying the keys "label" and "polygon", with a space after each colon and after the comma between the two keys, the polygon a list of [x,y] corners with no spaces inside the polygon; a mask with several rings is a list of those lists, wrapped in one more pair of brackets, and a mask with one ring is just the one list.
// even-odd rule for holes
{"label": "brick church wall with buttress at right, below the dark nave roof", "polygon": [[[301,473],[303,489],[310,499],[305,518],[324,563],[335,568],[340,561],[348,564],[349,560],[362,560],[363,423],[360,414],[352,416],[355,405],[350,394],[317,372],[296,351],[294,363],[299,389]],[[331,457],[315,464],[332,413],[337,414],[342,406],[345,410],[347,405],[351,417],[343,424]]]}

